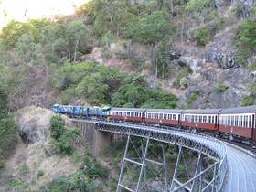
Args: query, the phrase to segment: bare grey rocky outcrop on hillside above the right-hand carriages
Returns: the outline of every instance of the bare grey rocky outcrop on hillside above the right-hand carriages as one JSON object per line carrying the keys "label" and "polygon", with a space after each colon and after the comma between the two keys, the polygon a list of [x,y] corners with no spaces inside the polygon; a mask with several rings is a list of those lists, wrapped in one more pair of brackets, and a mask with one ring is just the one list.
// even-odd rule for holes
{"label": "bare grey rocky outcrop on hillside above the right-hand carriages", "polygon": [[[238,53],[233,39],[233,30],[226,28],[205,47],[176,45],[171,51],[172,59],[180,67],[188,65],[193,71],[187,77],[185,99],[189,99],[193,91],[200,91],[197,100],[191,102],[190,108],[238,107],[242,104],[243,95],[252,94],[248,83],[256,80],[256,72],[250,72],[237,62]],[[227,89],[219,91],[219,85],[225,85]],[[185,104],[185,100],[179,102],[180,105]]]}

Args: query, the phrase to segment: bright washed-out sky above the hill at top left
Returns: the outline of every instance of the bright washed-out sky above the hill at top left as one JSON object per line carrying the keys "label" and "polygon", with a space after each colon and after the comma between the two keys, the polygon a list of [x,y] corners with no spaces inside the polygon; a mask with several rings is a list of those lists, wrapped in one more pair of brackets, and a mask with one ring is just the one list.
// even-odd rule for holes
{"label": "bright washed-out sky above the hill at top left", "polygon": [[75,8],[89,0],[0,0],[0,29],[11,19],[26,21],[28,18],[71,15]]}

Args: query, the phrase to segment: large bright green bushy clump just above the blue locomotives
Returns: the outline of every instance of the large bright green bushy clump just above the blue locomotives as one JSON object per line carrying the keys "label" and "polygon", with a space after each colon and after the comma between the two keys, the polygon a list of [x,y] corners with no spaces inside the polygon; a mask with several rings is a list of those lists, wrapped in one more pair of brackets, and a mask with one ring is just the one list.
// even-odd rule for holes
{"label": "large bright green bushy clump just above the blue locomotives", "polygon": [[[121,85],[124,73],[87,60],[71,65],[67,62],[56,71],[56,87],[63,92],[63,101],[71,96],[87,99],[91,105],[109,103],[111,95]],[[64,91],[63,91],[64,90]]]}

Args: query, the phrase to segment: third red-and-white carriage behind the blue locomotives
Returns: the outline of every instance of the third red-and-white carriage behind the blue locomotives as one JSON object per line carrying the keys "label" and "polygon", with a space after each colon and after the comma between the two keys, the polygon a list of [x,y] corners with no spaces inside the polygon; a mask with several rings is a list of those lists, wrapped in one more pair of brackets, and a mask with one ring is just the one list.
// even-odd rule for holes
{"label": "third red-and-white carriage behind the blue locomotives", "polygon": [[181,125],[208,130],[218,130],[220,109],[184,110]]}

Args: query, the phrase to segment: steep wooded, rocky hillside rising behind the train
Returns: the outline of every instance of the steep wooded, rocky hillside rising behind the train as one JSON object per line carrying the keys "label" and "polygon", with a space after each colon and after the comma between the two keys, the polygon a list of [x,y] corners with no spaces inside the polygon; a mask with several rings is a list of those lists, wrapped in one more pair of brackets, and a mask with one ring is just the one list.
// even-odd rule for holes
{"label": "steep wooded, rocky hillside rising behind the train", "polygon": [[[108,5],[109,10],[103,10],[103,5]],[[122,12],[123,7],[126,9]],[[121,12],[113,12],[114,9]],[[136,9],[140,11],[135,12]],[[254,9],[252,1],[243,0],[170,1],[170,4],[157,1],[112,4],[95,0],[78,7],[75,15],[64,16],[57,23],[49,20],[13,22],[2,31],[3,48],[5,51],[7,48],[7,52],[2,51],[5,55],[2,64],[9,66],[5,70],[18,66],[12,75],[20,80],[15,83],[17,88],[4,88],[5,97],[12,109],[31,104],[50,107],[54,102],[165,106],[157,99],[160,96],[151,95],[145,96],[148,98],[145,101],[143,98],[132,101],[127,96],[123,104],[115,104],[112,98],[121,97],[120,91],[126,83],[122,80],[111,84],[94,79],[102,86],[95,89],[91,85],[86,89],[92,92],[86,91],[82,88],[86,78],[79,74],[76,79],[78,73],[67,72],[76,70],[71,67],[74,61],[94,60],[120,72],[144,75],[146,88],[176,94],[179,99],[174,107],[203,109],[253,104],[255,44],[251,40],[247,47],[250,38],[238,31],[253,25],[246,22],[255,19]],[[104,14],[107,15],[102,17]],[[8,34],[18,26],[21,31],[11,32],[15,36],[10,38]],[[26,35],[26,28],[30,35]],[[61,30],[67,34],[59,36]],[[2,80],[3,84],[16,81],[12,75]],[[92,84],[93,77],[87,79]],[[154,106],[146,101],[158,104]]]}

